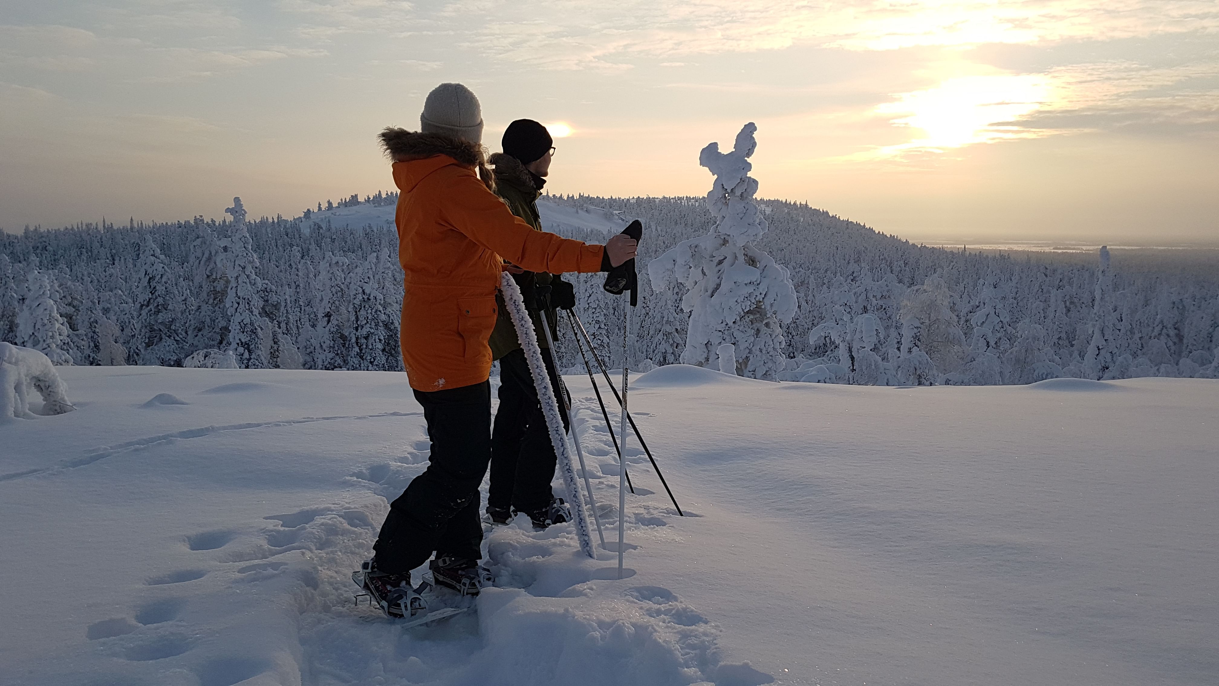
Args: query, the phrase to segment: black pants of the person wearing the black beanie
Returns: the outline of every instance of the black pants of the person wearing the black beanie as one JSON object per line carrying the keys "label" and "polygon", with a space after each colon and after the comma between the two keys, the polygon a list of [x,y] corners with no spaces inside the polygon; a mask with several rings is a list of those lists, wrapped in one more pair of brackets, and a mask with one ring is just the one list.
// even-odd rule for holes
{"label": "black pants of the person wearing the black beanie", "polygon": [[[568,427],[563,411],[562,381],[555,372],[550,349],[541,349],[550,386],[560,402],[563,428]],[[546,416],[538,399],[538,387],[525,363],[524,350],[517,348],[500,358],[500,409],[495,411],[491,431],[491,483],[486,497],[489,508],[516,508],[533,513],[550,505],[555,494],[555,446],[550,442]]]}

